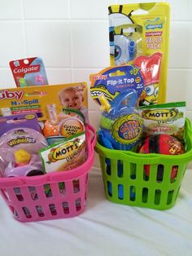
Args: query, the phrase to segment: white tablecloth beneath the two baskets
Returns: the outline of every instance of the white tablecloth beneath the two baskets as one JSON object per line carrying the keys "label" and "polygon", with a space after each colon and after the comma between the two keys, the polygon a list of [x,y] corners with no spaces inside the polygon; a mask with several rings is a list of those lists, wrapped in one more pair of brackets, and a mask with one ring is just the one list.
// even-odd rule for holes
{"label": "white tablecloth beneath the two baskets", "polygon": [[76,218],[20,223],[0,198],[0,255],[192,255],[192,170],[171,210],[107,201],[97,169],[89,174],[86,210]]}

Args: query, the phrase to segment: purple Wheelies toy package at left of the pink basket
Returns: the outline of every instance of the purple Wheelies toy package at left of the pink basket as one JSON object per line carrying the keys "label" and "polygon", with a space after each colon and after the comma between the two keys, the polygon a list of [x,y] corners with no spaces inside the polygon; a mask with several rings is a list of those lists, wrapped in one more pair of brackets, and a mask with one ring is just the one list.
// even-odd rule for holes
{"label": "purple Wheelies toy package at left of the pink basket", "polygon": [[0,117],[0,170],[2,177],[43,174],[38,152],[47,146],[37,116]]}

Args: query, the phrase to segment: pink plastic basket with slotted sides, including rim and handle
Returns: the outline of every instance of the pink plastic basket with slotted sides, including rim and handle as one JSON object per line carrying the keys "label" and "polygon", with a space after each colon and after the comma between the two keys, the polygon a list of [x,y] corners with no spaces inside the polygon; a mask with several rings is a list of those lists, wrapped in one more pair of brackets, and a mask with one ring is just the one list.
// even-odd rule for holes
{"label": "pink plastic basket with slotted sides, including rim and handle", "polygon": [[0,191],[20,222],[69,218],[85,210],[88,173],[94,163],[95,130],[86,126],[88,157],[76,169],[41,176],[0,178]]}

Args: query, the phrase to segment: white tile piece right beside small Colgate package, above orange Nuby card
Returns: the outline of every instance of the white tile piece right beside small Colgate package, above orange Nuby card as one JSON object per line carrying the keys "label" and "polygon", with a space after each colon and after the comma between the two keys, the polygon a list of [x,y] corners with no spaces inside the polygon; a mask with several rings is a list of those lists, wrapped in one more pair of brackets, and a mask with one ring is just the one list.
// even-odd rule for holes
{"label": "white tile piece right beside small Colgate package, above orange Nuby card", "polygon": [[71,70],[63,68],[46,68],[46,76],[50,85],[72,82]]}

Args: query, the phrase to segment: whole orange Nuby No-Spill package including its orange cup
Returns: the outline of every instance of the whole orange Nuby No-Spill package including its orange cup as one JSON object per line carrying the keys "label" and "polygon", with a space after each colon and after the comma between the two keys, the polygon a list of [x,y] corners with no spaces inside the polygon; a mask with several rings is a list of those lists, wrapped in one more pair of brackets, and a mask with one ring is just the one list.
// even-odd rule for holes
{"label": "whole orange Nuby No-Spill package including its orange cup", "polygon": [[48,143],[85,130],[88,122],[85,82],[0,90],[0,117],[36,113]]}

